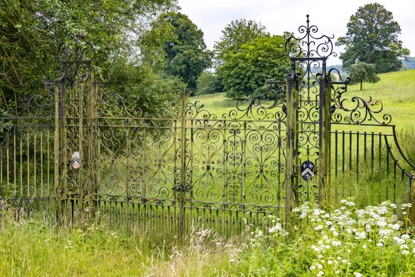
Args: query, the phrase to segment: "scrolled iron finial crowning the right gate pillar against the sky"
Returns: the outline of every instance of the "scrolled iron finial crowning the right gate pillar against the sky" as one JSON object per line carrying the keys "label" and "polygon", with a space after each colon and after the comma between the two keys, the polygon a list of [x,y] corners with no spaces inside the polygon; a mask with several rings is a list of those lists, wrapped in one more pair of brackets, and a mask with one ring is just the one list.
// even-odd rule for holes
{"label": "scrolled iron finial crowning the right gate pillar against the sky", "polygon": [[[313,34],[318,32],[318,28],[315,25],[310,26],[310,20],[307,15],[307,26],[299,26],[298,32],[304,34],[303,37],[294,37],[294,35],[286,36],[285,52],[288,57],[337,57],[337,53],[333,52],[333,42],[327,35],[321,37],[314,36]],[[320,41],[320,42],[319,42]],[[304,48],[302,47],[304,46]]]}

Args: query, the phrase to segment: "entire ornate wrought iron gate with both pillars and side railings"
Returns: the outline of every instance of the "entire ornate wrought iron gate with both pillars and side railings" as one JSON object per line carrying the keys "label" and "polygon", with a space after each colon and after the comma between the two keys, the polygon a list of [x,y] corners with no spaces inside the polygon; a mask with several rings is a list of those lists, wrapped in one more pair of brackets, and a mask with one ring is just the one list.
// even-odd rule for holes
{"label": "entire ornate wrought iron gate with both pillars and side railings", "polygon": [[268,215],[288,220],[305,201],[412,202],[415,166],[391,117],[377,118],[382,103],[345,98],[347,81],[326,71],[332,37],[308,17],[299,33],[270,96],[216,115],[181,90],[158,116],[108,93],[93,45],[73,36],[48,93],[1,118],[1,197],[68,222],[99,216],[181,236],[192,224],[230,236]]}

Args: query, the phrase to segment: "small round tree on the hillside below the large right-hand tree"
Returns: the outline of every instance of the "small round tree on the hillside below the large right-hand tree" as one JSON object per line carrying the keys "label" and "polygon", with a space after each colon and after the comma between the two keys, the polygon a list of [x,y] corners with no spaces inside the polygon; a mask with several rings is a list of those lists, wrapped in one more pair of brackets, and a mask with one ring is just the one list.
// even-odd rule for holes
{"label": "small round tree on the hillside below the large right-hand tree", "polygon": [[376,74],[375,64],[367,64],[366,62],[357,62],[356,64],[349,66],[347,73],[351,79],[350,84],[360,83],[360,91],[363,90],[363,82],[374,84],[380,80],[379,76]]}

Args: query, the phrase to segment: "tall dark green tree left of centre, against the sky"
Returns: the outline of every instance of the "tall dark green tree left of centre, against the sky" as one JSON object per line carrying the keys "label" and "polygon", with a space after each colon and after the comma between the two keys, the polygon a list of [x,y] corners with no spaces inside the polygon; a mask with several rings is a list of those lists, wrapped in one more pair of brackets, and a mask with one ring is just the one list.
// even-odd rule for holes
{"label": "tall dark green tree left of centre, against the sky", "polygon": [[211,64],[211,53],[206,50],[203,32],[180,12],[166,12],[152,24],[149,32],[162,35],[160,30],[172,30],[172,35],[159,39],[165,53],[164,71],[183,78],[190,89],[196,89],[196,80]]}

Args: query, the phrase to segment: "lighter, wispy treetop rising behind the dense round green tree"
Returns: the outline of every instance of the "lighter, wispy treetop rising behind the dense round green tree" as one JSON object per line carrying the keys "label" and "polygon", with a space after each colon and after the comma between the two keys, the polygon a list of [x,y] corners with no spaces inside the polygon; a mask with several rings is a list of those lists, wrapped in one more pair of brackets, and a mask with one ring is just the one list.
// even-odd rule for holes
{"label": "lighter, wispy treetop rising behind the dense round green tree", "polygon": [[239,19],[232,21],[222,30],[219,42],[214,43],[215,64],[223,64],[227,53],[237,53],[243,44],[252,42],[259,37],[269,37],[266,27],[253,20]]}

